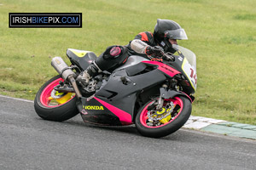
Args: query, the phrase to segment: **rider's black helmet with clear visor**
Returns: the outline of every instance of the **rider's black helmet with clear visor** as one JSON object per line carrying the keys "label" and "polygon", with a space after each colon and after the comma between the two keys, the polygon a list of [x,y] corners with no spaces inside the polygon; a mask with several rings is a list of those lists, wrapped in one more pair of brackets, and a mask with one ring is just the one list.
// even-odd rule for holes
{"label": "rider's black helmet with clear visor", "polygon": [[177,24],[177,22],[173,20],[158,19],[154,27],[154,39],[164,48],[165,52],[171,52],[173,54],[176,50],[172,48],[169,39],[187,40],[188,37],[186,32]]}

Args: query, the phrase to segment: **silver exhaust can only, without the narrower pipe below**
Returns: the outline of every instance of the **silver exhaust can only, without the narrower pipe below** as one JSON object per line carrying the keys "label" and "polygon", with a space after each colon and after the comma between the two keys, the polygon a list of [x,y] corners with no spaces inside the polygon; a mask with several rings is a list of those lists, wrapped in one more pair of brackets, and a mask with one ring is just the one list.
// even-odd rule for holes
{"label": "silver exhaust can only, without the narrower pipe below", "polygon": [[51,60],[51,65],[55,68],[55,70],[61,75],[61,77],[66,80],[67,77],[73,75],[73,77],[76,76],[76,74],[68,67],[68,65],[65,63],[61,57],[55,57]]}

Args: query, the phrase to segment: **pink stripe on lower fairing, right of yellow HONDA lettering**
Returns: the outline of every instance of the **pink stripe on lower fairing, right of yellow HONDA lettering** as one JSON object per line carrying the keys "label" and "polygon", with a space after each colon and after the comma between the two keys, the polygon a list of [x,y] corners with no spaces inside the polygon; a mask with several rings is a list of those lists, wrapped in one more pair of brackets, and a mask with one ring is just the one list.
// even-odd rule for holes
{"label": "pink stripe on lower fairing, right of yellow HONDA lettering", "polygon": [[120,110],[117,107],[114,107],[113,105],[108,104],[105,101],[102,101],[102,99],[97,99],[96,97],[94,97],[94,99],[96,99],[98,102],[100,102],[102,105],[104,105],[105,107],[108,108],[109,111],[113,112],[113,114],[115,116],[119,117],[120,122],[122,123],[122,125],[131,125],[132,121],[131,121],[131,115],[125,111]]}

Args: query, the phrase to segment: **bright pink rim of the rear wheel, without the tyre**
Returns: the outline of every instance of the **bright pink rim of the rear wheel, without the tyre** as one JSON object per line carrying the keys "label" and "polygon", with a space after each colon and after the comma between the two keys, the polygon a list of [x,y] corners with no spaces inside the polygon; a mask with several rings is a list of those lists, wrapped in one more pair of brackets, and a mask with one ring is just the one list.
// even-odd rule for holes
{"label": "bright pink rim of the rear wheel, without the tyre", "polygon": [[48,86],[46,86],[40,96],[40,102],[42,105],[44,105],[45,107],[59,107],[61,105],[66,104],[68,101],[70,101],[71,99],[74,98],[74,96],[71,99],[68,99],[66,103],[61,104],[61,105],[49,105],[50,103],[50,94],[52,92],[52,90],[55,88],[55,86],[57,86],[59,84],[60,81],[63,81],[62,78],[58,78],[53,82],[50,82]]}

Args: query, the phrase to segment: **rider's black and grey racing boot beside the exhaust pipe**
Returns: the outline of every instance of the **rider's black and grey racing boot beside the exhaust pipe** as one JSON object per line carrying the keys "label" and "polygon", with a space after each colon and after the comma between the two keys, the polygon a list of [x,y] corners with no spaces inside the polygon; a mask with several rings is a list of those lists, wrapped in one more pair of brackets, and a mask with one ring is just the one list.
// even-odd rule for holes
{"label": "rider's black and grey racing boot beside the exhaust pipe", "polygon": [[82,71],[79,74],[76,81],[84,88],[89,84],[90,79],[96,77],[99,72],[101,72],[100,68],[95,64],[95,62],[93,62],[85,71]]}

